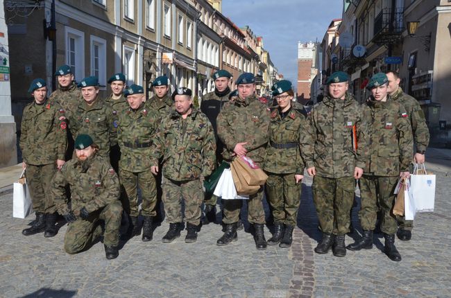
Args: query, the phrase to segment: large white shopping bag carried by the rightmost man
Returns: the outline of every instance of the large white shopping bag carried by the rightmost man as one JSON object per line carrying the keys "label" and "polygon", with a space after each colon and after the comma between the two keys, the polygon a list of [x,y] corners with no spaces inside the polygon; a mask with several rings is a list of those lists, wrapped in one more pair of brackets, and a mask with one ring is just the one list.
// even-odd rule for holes
{"label": "large white shopping bag carried by the rightmost man", "polygon": [[410,175],[411,193],[414,196],[416,211],[433,212],[435,201],[435,175],[428,175],[425,164],[420,165],[424,170],[423,175],[418,175],[418,164],[414,167],[414,173]]}

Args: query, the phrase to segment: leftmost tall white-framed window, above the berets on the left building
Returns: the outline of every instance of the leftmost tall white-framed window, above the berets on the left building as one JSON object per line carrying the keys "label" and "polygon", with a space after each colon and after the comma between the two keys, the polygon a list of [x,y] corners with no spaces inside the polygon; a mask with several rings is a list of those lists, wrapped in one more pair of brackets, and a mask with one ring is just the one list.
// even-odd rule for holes
{"label": "leftmost tall white-framed window, above the berets on the left building", "polygon": [[65,27],[66,64],[76,80],[85,78],[85,33]]}

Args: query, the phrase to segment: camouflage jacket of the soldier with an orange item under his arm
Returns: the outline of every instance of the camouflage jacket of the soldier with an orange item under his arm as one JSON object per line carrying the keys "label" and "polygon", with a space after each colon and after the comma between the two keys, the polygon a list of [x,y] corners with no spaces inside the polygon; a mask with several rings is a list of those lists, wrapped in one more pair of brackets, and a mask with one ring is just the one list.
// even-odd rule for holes
{"label": "camouflage jacket of the soldier with an orange item under his arm", "polygon": [[344,100],[325,96],[309,115],[313,146],[303,148],[307,168],[314,166],[316,175],[329,178],[352,177],[356,166],[365,168],[368,125],[363,116],[363,108],[351,94],[346,93]]}

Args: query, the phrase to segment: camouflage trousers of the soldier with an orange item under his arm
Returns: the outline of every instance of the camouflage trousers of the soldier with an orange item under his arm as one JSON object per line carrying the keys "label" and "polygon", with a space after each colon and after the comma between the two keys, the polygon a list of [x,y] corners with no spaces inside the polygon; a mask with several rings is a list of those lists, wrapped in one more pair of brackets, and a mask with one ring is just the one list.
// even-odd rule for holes
{"label": "camouflage trousers of the soldier with an orange item under his arm", "polygon": [[313,200],[323,233],[348,233],[354,191],[354,177],[326,178],[316,175],[313,178]]}

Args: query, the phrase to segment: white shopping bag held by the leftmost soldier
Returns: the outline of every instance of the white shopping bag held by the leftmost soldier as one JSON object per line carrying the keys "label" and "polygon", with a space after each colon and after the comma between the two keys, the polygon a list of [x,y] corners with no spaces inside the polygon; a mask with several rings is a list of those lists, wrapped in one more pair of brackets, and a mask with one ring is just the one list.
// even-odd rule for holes
{"label": "white shopping bag held by the leftmost soldier", "polygon": [[26,218],[33,212],[30,191],[26,185],[26,179],[24,177],[25,169],[20,174],[19,181],[13,184],[12,195],[12,217],[13,218]]}

